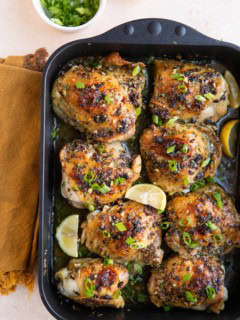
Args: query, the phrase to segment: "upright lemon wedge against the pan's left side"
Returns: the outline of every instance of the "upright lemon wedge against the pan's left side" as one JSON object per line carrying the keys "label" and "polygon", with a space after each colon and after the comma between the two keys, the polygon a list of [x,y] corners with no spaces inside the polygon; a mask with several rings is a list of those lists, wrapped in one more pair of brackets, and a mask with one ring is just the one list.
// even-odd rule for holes
{"label": "upright lemon wedge against the pan's left side", "polygon": [[73,214],[57,227],[56,239],[59,247],[70,257],[78,257],[78,224],[79,216]]}

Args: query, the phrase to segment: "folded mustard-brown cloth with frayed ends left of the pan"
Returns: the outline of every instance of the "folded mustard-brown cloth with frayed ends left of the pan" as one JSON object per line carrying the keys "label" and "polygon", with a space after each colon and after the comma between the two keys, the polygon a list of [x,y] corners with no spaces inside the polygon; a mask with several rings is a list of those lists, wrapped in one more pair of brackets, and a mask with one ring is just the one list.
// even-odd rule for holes
{"label": "folded mustard-brown cloth with frayed ends left of the pan", "polygon": [[40,94],[46,49],[0,59],[0,294],[33,290],[38,238]]}

